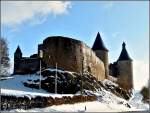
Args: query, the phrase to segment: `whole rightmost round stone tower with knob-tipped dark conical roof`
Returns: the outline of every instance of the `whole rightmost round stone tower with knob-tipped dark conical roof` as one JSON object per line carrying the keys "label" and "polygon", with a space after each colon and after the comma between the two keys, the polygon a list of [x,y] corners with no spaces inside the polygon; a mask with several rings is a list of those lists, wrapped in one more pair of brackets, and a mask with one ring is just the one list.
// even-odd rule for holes
{"label": "whole rightmost round stone tower with knob-tipped dark conical roof", "polygon": [[118,84],[120,87],[130,90],[133,88],[133,66],[132,59],[130,58],[127,50],[126,44],[123,42],[122,51],[117,60],[118,67]]}

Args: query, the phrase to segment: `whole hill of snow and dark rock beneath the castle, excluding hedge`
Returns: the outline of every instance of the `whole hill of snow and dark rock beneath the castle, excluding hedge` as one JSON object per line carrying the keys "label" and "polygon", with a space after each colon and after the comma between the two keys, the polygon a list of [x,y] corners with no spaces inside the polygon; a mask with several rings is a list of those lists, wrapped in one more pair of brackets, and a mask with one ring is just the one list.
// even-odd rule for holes
{"label": "whole hill of snow and dark rock beneath the castle, excluding hedge", "polygon": [[[9,79],[1,80],[1,96],[15,96],[34,100],[38,97],[54,99],[80,96],[80,81],[81,77],[75,72],[58,70],[58,94],[54,94],[54,76],[55,69],[46,69],[42,72],[42,89],[38,89],[39,74],[32,75],[14,75]],[[86,75],[86,76],[85,76]],[[28,109],[21,111],[78,111],[83,109],[83,105],[87,106],[89,111],[103,111],[104,108],[108,111],[135,111],[149,109],[148,105],[142,103],[141,94],[132,91],[127,92],[120,88],[116,83],[105,79],[103,82],[97,81],[92,75],[84,73],[83,80],[83,96],[95,96],[96,100],[89,102],[78,102],[74,104],[52,105],[46,108]],[[63,88],[63,89],[62,89]],[[61,94],[64,91],[64,94]],[[91,104],[94,105],[93,108]],[[81,106],[82,108],[81,108]],[[65,106],[65,107],[62,107]],[[75,106],[74,109],[71,109]],[[79,107],[80,106],[80,107]],[[102,106],[102,107],[101,107]],[[117,107],[120,106],[120,107]],[[11,111],[20,111],[19,109],[10,109]]]}

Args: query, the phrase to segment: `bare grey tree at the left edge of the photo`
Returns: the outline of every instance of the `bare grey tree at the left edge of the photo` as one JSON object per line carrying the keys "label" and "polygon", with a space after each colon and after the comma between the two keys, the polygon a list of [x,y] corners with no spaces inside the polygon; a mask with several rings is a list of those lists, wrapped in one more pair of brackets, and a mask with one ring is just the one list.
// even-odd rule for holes
{"label": "bare grey tree at the left edge of the photo", "polygon": [[0,76],[9,75],[9,57],[8,57],[8,43],[5,38],[0,37]]}

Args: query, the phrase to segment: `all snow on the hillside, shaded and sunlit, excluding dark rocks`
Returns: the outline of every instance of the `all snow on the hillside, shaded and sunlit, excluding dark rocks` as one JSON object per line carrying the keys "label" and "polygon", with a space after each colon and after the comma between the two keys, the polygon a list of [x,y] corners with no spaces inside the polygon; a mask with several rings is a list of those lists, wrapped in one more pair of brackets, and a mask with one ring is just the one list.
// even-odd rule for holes
{"label": "all snow on the hillside, shaded and sunlit, excluding dark rocks", "polygon": [[[35,89],[25,87],[23,82],[25,81],[34,81],[39,79],[39,75],[15,75],[10,77],[7,80],[1,80],[1,95],[14,95],[17,97],[24,97],[27,96],[29,98],[35,98],[36,96],[43,96],[43,97],[59,97],[62,96],[73,96],[77,94],[54,94],[49,93],[43,89]],[[45,77],[42,77],[44,80]],[[109,86],[108,89],[111,87],[117,87],[117,84],[109,81],[104,80],[102,82],[104,86]],[[63,104],[63,105],[53,105],[50,107],[45,108],[34,108],[34,109],[13,109],[10,111],[14,112],[118,112],[118,111],[143,111],[148,110],[149,106],[142,102],[142,96],[140,93],[133,90],[132,98],[129,100],[125,100],[123,98],[118,97],[115,93],[112,93],[110,90],[106,89],[106,87],[101,87],[101,89],[97,89],[96,91],[84,90],[85,94],[87,95],[96,95],[97,100],[93,102],[83,102],[83,103],[76,103],[76,104]],[[86,106],[86,107],[85,107]]]}

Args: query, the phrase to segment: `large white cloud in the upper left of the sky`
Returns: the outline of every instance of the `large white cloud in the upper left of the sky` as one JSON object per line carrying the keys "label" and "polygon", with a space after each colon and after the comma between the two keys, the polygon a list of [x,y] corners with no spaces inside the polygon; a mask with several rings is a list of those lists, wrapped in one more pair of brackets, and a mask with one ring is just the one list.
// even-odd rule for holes
{"label": "large white cloud in the upper left of the sky", "polygon": [[67,13],[70,5],[68,1],[2,1],[1,23],[12,26],[26,21],[43,22],[49,14]]}

